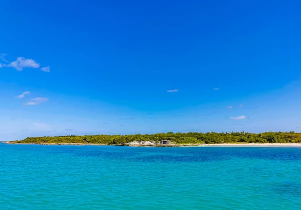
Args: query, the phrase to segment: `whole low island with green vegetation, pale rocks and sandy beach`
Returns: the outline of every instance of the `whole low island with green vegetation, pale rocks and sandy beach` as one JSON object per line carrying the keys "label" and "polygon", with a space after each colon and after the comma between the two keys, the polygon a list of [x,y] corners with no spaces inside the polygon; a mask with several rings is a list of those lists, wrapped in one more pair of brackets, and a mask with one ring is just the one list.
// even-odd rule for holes
{"label": "whole low island with green vegetation, pale rocks and sandy beach", "polygon": [[135,135],[91,135],[91,136],[56,136],[28,137],[8,144],[47,144],[47,145],[117,145],[117,146],[205,146],[205,145],[301,145],[301,133],[265,132],[265,133],[158,133]]}

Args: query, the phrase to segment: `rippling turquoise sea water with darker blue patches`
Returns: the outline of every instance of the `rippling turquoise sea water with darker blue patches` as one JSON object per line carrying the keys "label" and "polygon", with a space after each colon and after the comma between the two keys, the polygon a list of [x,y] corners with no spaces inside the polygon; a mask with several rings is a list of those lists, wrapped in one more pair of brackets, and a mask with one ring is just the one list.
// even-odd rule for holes
{"label": "rippling turquoise sea water with darker blue patches", "polygon": [[0,209],[301,209],[301,148],[0,144]]}

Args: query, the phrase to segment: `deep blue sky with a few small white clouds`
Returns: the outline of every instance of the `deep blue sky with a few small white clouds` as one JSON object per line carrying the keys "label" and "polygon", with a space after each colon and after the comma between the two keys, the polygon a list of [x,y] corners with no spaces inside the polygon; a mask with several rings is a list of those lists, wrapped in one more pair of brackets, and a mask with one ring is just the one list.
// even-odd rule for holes
{"label": "deep blue sky with a few small white clouds", "polygon": [[2,1],[0,140],[301,132],[299,1]]}

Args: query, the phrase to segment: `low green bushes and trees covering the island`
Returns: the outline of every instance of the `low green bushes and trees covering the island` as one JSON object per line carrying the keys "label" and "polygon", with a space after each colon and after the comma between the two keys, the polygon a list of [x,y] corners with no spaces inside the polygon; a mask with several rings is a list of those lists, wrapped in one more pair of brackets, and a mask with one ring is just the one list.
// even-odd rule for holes
{"label": "low green bushes and trees covering the island", "polygon": [[176,144],[221,144],[221,143],[301,143],[301,133],[266,132],[252,134],[245,132],[232,133],[159,133],[136,135],[93,135],[93,136],[58,136],[28,137],[15,143],[79,143],[79,144],[124,144],[133,141],[170,140]]}

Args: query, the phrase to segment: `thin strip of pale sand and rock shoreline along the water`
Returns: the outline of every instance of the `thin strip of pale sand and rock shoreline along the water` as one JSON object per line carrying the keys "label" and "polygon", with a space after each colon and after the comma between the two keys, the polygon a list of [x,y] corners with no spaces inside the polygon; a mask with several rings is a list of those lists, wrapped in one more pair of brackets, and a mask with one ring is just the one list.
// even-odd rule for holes
{"label": "thin strip of pale sand and rock shoreline along the water", "polygon": [[84,143],[10,143],[26,145],[74,145],[74,146],[129,146],[129,147],[301,147],[301,143],[223,143],[223,144],[162,144],[162,145],[116,145],[116,144],[84,144]]}

